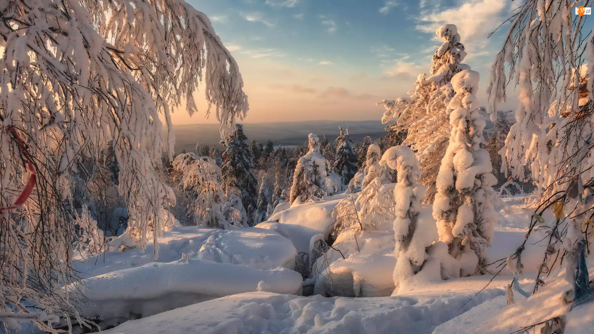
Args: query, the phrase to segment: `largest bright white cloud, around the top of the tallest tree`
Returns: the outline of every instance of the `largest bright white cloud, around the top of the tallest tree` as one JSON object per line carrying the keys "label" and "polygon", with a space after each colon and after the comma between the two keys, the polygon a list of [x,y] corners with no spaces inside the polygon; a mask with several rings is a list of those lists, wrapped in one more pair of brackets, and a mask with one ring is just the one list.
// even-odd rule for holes
{"label": "largest bright white cloud, around the top of the tallest tree", "polygon": [[455,24],[467,49],[481,49],[487,45],[488,34],[499,26],[509,10],[509,1],[465,0],[459,7],[439,11],[434,8],[431,14],[421,17],[416,28],[435,33],[442,24]]}

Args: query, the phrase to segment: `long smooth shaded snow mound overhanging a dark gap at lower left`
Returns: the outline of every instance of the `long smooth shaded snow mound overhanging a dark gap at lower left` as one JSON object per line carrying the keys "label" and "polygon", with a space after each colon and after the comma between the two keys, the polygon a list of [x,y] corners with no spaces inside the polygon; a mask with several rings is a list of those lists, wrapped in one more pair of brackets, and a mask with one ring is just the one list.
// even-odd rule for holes
{"label": "long smooth shaded snow mound overhanging a dark gap at lower left", "polygon": [[205,300],[251,291],[301,294],[301,275],[282,267],[262,270],[184,258],[148,263],[70,286],[88,300],[83,314],[102,319],[134,319]]}

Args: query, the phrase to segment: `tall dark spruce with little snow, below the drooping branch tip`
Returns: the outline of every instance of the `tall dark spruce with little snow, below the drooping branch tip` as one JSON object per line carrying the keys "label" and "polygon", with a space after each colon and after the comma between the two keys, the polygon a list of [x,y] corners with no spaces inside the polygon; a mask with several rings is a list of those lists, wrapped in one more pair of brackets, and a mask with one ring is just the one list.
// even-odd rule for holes
{"label": "tall dark spruce with little snow, below the drooping branch tip", "polygon": [[258,198],[258,180],[252,174],[254,156],[246,143],[248,138],[245,137],[244,126],[235,124],[235,128],[235,134],[226,144],[227,147],[223,152],[221,166],[223,185],[226,194],[236,194],[241,197],[241,202],[248,214],[248,224],[251,226]]}

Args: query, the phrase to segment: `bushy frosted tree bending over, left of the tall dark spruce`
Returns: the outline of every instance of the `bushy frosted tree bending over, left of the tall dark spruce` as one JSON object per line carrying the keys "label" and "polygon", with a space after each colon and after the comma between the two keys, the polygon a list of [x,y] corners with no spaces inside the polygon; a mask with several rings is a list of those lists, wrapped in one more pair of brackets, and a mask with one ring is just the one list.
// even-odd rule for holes
{"label": "bushy frosted tree bending over, left of the tall dark spruce", "polygon": [[242,220],[227,220],[229,216],[241,215],[242,210],[228,212],[235,208],[226,203],[221,170],[213,159],[185,153],[173,160],[173,169],[181,175],[179,191],[185,191],[192,198],[188,209],[193,213],[195,225],[222,229],[247,226]]}

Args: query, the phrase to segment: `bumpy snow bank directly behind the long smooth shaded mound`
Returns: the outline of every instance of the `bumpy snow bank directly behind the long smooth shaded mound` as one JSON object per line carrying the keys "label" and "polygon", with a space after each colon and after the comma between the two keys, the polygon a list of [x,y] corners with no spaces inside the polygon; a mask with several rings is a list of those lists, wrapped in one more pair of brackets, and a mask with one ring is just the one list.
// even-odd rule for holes
{"label": "bumpy snow bank directly behind the long smooth shaded mound", "polygon": [[260,228],[223,230],[198,226],[173,226],[159,239],[159,259],[153,257],[153,244],[144,253],[138,248],[106,251],[99,256],[77,259],[74,266],[83,278],[102,275],[115,270],[144,266],[158,261],[177,261],[182,254],[191,259],[219,263],[244,264],[258,269],[278,266],[293,269],[297,251],[290,240],[282,235]]}

